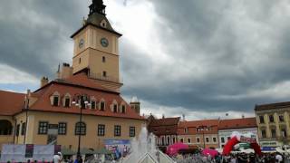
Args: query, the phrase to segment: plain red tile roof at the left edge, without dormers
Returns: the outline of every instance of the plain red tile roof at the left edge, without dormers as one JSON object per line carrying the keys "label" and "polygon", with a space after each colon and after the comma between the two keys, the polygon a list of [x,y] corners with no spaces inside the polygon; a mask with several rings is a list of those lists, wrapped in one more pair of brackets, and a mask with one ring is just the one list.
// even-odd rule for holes
{"label": "plain red tile roof at the left edge, without dormers", "polygon": [[12,116],[24,108],[23,93],[0,91],[0,115]]}

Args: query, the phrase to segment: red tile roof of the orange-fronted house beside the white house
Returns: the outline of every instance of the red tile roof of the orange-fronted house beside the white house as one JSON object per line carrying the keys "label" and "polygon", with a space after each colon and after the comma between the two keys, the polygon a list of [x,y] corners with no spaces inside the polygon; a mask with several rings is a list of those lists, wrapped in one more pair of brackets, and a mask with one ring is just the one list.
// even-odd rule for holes
{"label": "red tile roof of the orange-fronted house beside the white house", "polygon": [[[192,121],[180,121],[179,123],[179,135],[194,135],[194,134],[218,134],[219,120],[192,120]],[[198,128],[204,126],[208,130],[198,131]],[[188,132],[185,132],[188,129]]]}

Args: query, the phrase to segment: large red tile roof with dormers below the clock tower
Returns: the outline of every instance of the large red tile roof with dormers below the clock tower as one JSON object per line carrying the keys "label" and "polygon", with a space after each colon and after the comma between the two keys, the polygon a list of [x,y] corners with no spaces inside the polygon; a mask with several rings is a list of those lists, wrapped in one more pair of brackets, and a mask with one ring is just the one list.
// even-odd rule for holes
{"label": "large red tile roof with dormers below the clock tower", "polygon": [[[61,94],[61,106],[52,106],[50,97],[54,92]],[[83,114],[107,116],[107,117],[120,117],[129,119],[144,120],[138,113],[131,110],[130,105],[124,101],[120,93],[104,89],[97,83],[92,82],[85,75],[77,75],[65,81],[53,81],[45,85],[42,89],[33,93],[33,96],[38,96],[38,100],[30,107],[30,110],[63,112],[78,114],[80,109],[72,105],[70,108],[63,107],[62,99],[65,94],[69,93],[72,96],[75,94],[87,94],[94,97],[96,101],[105,101],[105,110],[82,110]],[[126,105],[126,113],[114,113],[111,111],[110,105],[113,101],[117,101],[118,105],[123,102]]]}

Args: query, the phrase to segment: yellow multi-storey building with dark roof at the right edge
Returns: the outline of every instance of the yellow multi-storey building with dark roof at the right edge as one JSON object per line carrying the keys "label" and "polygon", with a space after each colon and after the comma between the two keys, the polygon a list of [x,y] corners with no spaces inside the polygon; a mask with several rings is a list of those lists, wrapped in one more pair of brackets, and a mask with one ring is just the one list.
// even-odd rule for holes
{"label": "yellow multi-storey building with dark roof at the right edge", "polygon": [[290,145],[290,102],[256,105],[256,123],[262,147]]}

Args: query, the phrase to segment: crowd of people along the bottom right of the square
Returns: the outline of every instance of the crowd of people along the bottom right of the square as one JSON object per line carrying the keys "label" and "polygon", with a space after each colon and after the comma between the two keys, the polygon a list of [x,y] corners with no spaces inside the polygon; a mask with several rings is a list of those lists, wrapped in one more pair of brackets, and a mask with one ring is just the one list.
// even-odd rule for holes
{"label": "crowd of people along the bottom right of the square", "polygon": [[257,156],[255,153],[235,153],[229,156],[218,154],[215,157],[198,154],[177,155],[172,157],[177,163],[290,163],[290,155],[275,153],[263,153]]}

